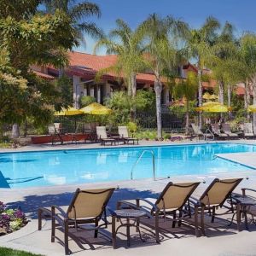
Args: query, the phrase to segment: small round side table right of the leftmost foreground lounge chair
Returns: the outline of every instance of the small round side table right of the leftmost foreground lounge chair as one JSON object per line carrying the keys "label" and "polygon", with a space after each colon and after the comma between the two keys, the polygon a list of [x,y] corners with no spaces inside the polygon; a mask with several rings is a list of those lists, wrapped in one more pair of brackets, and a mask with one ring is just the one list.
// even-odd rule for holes
{"label": "small round side table right of the leftmost foreground lounge chair", "polygon": [[[116,234],[121,227],[126,227],[127,247],[131,246],[130,228],[136,227],[141,240],[143,241],[141,231],[139,229],[139,219],[146,216],[146,212],[138,209],[120,209],[112,212],[112,238],[113,249],[116,248]],[[120,225],[116,229],[116,219],[120,220]],[[125,219],[125,222],[123,222]]]}

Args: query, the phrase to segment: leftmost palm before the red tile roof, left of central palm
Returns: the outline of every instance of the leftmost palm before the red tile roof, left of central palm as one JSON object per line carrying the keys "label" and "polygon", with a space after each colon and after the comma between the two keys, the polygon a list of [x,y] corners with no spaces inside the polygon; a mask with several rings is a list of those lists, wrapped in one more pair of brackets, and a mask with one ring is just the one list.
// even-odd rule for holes
{"label": "leftmost palm before the red tile roof, left of central palm", "polygon": [[[128,96],[135,101],[137,92],[136,76],[146,67],[143,59],[143,34],[140,27],[135,31],[131,30],[124,20],[116,20],[116,28],[109,32],[108,38],[100,39],[95,46],[96,49],[106,47],[108,54],[118,55],[115,65],[108,67],[108,71],[113,71],[118,75],[124,75],[128,85]],[[101,73],[105,73],[106,69]],[[135,118],[135,104],[131,105],[131,119]]]}

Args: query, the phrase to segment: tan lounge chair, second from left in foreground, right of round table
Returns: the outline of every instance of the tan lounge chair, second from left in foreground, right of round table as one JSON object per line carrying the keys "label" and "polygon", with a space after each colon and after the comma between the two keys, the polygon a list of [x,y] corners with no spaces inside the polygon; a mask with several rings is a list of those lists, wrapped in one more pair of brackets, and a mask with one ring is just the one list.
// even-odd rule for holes
{"label": "tan lounge chair, second from left in foreground, right of round table", "polygon": [[[172,227],[175,227],[175,222],[181,224],[182,220],[185,220],[189,215],[186,214],[184,206],[189,200],[189,196],[195,191],[200,182],[195,183],[168,183],[166,188],[160,193],[157,199],[154,198],[137,198],[136,201],[119,201],[117,208],[131,207],[142,209],[147,212],[148,218],[154,218],[155,223],[155,239],[156,242],[160,242],[160,228],[159,219],[160,216],[164,218],[172,219]],[[177,211],[179,215],[177,217]],[[188,219],[188,218],[187,218]]]}

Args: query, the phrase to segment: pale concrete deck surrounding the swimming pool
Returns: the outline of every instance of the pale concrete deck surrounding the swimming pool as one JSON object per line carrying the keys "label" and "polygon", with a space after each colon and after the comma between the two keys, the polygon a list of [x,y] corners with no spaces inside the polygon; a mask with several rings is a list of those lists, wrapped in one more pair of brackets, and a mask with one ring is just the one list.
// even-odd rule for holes
{"label": "pale concrete deck surrounding the swimming pool", "polygon": [[[198,142],[186,142],[198,143]],[[204,142],[200,142],[204,143]],[[212,143],[212,142],[209,142]],[[213,142],[214,143],[214,142]],[[226,143],[226,142],[224,142]],[[230,143],[247,143],[256,144],[255,141],[231,141]],[[177,145],[183,143],[163,143],[163,142],[141,142],[139,146],[156,146],[156,145]],[[63,146],[50,146],[50,145],[32,145],[24,148],[17,149],[0,149],[0,152],[18,152],[18,151],[37,151],[37,150],[55,150],[55,149],[69,149],[69,148],[102,148],[101,146],[90,144],[78,145],[63,145]],[[228,160],[234,160],[241,164],[256,167],[256,154],[242,153],[242,154],[221,154],[220,157]],[[114,193],[112,200],[109,202],[110,207],[115,208],[116,201],[119,199],[134,199],[137,197],[155,197],[168,183],[180,181],[205,181],[201,183],[199,188],[195,190],[195,196],[200,196],[202,191],[211,183],[214,177],[244,177],[236,192],[241,192],[241,187],[256,189],[256,171],[253,172],[236,172],[236,173],[222,173],[198,177],[196,175],[172,177],[171,179],[163,178],[153,181],[152,179],[133,180],[133,181],[116,181],[111,183],[87,183],[86,188],[96,187],[119,187]],[[248,177],[248,179],[246,178]],[[21,230],[7,236],[0,236],[0,246],[12,247],[31,251],[33,253],[41,253],[44,255],[64,255],[64,247],[59,241],[55,243],[50,242],[50,222],[44,221],[44,228],[38,231],[37,210],[38,207],[49,207],[53,204],[61,207],[67,207],[73,192],[76,188],[84,188],[84,184],[54,186],[44,188],[29,188],[29,189],[0,189],[0,201],[4,201],[9,207],[21,207],[30,218],[29,224]],[[227,216],[231,218],[231,215]],[[227,224],[221,221],[217,222],[216,226],[208,224],[208,236],[195,238],[194,230],[192,229],[177,229],[168,230],[168,227],[163,227],[167,230],[162,236],[161,244],[158,245],[150,236],[150,232],[143,232],[147,241],[139,241],[137,233],[132,234],[131,247],[125,248],[125,237],[119,234],[118,249],[113,250],[110,243],[100,241],[93,250],[86,244],[84,245],[85,251],[80,249],[75,243],[70,242],[70,248],[73,255],[256,255],[256,242],[255,231],[256,226],[250,225],[250,230],[243,230],[239,233],[236,231],[236,225],[230,228]],[[164,225],[164,224],[163,224]],[[182,226],[183,227],[183,226]],[[108,232],[110,228],[108,228]],[[121,230],[124,232],[125,230]],[[134,231],[134,230],[133,230]],[[61,240],[63,234],[58,233]],[[177,237],[176,237],[177,236]],[[100,238],[102,239],[102,238]],[[98,241],[99,242],[99,241]],[[102,244],[101,244],[102,242]]]}

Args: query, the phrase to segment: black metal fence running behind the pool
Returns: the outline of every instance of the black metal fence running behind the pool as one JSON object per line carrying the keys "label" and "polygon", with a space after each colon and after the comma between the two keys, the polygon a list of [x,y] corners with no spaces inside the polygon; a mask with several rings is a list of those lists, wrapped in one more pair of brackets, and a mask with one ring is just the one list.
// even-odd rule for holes
{"label": "black metal fence running behind the pool", "polygon": [[[186,113],[171,112],[170,110],[162,111],[162,129],[167,132],[183,132],[185,129],[185,115]],[[200,113],[189,113],[189,122],[198,124]],[[217,123],[221,119],[223,122],[236,122],[251,121],[252,114],[248,113],[201,113],[202,125],[206,126],[209,123]],[[137,125],[141,129],[156,129],[156,115],[155,113],[137,113]],[[79,116],[62,116],[56,117],[55,122],[61,122],[62,132],[84,132],[90,130],[91,126],[95,125],[108,125],[108,118],[99,121],[99,119],[84,119]],[[117,125],[109,125],[111,131],[115,131]],[[2,133],[4,136],[11,136],[12,125],[2,125]],[[20,136],[41,135],[48,133],[48,126],[45,125],[40,128],[35,128],[28,122],[20,125]]]}

